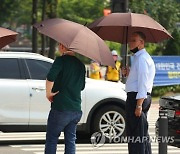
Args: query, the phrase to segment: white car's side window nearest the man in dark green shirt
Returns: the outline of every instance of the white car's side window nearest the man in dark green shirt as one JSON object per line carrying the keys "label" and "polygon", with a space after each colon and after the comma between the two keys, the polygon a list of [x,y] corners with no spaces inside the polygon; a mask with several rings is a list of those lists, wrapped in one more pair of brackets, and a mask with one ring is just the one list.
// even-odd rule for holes
{"label": "white car's side window nearest the man in dark green shirt", "polygon": [[26,63],[29,69],[31,79],[36,80],[45,80],[47,73],[49,72],[52,65],[49,62],[35,59],[26,59]]}

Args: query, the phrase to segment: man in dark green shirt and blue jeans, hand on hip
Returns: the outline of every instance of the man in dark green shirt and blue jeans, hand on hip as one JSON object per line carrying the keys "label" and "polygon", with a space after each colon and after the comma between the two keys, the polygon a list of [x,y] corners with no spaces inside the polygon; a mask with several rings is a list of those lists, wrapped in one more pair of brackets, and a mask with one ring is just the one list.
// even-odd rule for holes
{"label": "man in dark green shirt and blue jeans, hand on hip", "polygon": [[85,87],[85,66],[73,51],[59,45],[62,56],[56,58],[46,80],[46,97],[51,102],[45,154],[55,154],[58,138],[64,130],[65,154],[75,154],[76,126],[82,116],[81,91]]}

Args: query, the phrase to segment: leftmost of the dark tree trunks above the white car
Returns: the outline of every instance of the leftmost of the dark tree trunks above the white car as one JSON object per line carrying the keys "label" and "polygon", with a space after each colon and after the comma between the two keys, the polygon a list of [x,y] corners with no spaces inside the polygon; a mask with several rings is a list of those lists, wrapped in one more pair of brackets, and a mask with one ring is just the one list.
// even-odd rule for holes
{"label": "leftmost of the dark tree trunks above the white car", "polygon": [[[37,22],[37,1],[33,0],[32,24]],[[37,29],[35,27],[32,28],[32,52],[37,53]]]}

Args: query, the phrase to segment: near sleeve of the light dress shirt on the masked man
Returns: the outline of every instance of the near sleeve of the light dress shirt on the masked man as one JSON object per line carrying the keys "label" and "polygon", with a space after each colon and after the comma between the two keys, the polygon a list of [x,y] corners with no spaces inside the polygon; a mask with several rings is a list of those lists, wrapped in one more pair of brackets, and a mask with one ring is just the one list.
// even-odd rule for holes
{"label": "near sleeve of the light dress shirt on the masked man", "polygon": [[147,98],[147,84],[148,84],[148,62],[145,57],[141,56],[137,62],[138,73],[138,93],[136,99]]}

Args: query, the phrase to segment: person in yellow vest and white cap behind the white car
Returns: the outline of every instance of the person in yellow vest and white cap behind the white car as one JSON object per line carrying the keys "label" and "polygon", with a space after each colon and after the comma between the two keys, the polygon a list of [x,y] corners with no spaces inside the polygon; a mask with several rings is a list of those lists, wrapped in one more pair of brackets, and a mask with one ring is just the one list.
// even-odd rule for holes
{"label": "person in yellow vest and white cap behind the white car", "polygon": [[118,82],[120,80],[120,66],[121,63],[118,60],[118,54],[116,50],[112,51],[112,56],[115,61],[116,67],[113,68],[112,66],[107,66],[106,73],[105,73],[105,80]]}

